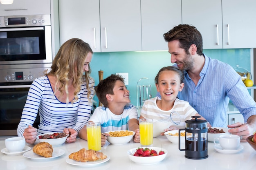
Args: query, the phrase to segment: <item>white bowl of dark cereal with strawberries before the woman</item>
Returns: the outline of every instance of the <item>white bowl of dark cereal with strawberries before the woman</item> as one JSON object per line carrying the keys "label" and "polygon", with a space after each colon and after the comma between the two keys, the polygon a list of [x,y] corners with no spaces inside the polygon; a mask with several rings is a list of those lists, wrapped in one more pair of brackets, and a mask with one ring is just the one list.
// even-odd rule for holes
{"label": "white bowl of dark cereal with strawberries before the woman", "polygon": [[54,132],[54,133],[44,133],[36,136],[36,139],[39,142],[47,142],[54,146],[60,146],[63,143],[65,143],[66,139],[68,137],[68,134],[65,133],[59,133],[59,132]]}

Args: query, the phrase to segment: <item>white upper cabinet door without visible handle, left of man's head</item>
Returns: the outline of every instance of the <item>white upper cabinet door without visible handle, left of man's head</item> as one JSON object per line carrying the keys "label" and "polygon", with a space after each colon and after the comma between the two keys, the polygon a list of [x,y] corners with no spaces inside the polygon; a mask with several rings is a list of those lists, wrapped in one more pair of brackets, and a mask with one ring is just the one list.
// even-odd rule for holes
{"label": "white upper cabinet door without visible handle, left of man's head", "polygon": [[163,34],[181,23],[181,0],[141,0],[142,51],[168,50]]}

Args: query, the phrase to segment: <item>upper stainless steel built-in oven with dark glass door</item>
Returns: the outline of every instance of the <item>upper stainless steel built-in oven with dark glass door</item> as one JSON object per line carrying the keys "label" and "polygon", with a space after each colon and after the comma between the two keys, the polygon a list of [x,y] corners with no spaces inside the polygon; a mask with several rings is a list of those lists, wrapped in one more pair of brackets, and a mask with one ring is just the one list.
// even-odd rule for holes
{"label": "upper stainless steel built-in oven with dark glass door", "polygon": [[52,62],[50,15],[0,17],[0,65]]}

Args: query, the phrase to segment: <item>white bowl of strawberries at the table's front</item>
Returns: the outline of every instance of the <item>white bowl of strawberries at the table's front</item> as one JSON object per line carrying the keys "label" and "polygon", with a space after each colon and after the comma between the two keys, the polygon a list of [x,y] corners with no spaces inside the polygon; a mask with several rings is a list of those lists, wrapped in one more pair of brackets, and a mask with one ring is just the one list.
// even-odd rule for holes
{"label": "white bowl of strawberries at the table's front", "polygon": [[139,147],[128,150],[127,154],[131,161],[143,165],[158,163],[167,155],[167,150],[158,147]]}

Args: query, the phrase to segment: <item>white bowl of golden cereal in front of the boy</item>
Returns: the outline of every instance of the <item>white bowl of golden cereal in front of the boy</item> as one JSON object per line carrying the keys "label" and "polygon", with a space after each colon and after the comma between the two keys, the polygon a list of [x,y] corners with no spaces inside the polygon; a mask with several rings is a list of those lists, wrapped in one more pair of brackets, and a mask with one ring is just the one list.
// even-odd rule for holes
{"label": "white bowl of golden cereal in front of the boy", "polygon": [[131,130],[113,130],[104,133],[109,134],[107,141],[113,145],[127,144],[135,135],[135,132]]}

